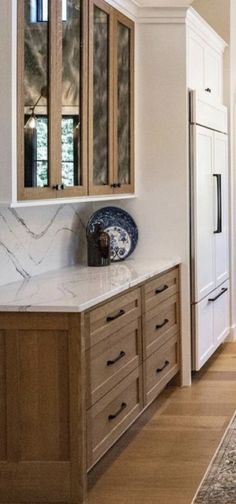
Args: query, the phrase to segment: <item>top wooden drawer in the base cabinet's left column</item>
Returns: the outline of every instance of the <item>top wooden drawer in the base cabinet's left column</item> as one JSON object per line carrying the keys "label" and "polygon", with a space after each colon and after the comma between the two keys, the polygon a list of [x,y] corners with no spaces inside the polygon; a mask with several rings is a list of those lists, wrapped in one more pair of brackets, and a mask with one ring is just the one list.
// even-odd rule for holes
{"label": "top wooden drawer in the base cabinet's left column", "polygon": [[140,289],[117,297],[86,315],[87,348],[120,330],[141,315]]}

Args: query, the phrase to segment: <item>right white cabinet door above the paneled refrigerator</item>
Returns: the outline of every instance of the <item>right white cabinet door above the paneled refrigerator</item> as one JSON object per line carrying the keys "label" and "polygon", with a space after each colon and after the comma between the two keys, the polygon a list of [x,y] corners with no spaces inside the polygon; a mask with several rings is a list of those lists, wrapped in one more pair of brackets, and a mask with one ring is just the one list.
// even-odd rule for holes
{"label": "right white cabinet door above the paneled refrigerator", "polygon": [[222,101],[222,57],[211,49],[205,47],[204,52],[204,87],[209,90],[217,101]]}

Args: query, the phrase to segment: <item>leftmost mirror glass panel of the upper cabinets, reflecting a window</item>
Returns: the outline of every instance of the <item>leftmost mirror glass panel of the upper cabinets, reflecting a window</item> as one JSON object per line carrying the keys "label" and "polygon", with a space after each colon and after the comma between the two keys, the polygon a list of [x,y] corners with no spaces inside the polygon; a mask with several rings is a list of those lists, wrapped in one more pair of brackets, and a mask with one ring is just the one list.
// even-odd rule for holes
{"label": "leftmost mirror glass panel of the upper cabinets, reflecting a window", "polygon": [[48,171],[48,2],[24,1],[24,185],[46,187]]}

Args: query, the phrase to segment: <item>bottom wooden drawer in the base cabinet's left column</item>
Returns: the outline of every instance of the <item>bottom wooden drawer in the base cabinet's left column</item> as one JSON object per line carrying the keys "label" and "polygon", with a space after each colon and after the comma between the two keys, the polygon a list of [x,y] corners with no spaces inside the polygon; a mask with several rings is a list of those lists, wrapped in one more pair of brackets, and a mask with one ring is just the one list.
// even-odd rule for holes
{"label": "bottom wooden drawer in the base cabinet's left column", "polygon": [[87,411],[88,468],[112,446],[142,408],[139,367]]}

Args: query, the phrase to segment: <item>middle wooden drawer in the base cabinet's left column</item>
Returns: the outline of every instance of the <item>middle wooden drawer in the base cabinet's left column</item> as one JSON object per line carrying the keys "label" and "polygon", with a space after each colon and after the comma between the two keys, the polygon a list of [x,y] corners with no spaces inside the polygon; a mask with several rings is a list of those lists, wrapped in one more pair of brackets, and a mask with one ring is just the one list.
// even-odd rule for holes
{"label": "middle wooden drawer in the base cabinet's left column", "polygon": [[87,350],[86,363],[90,407],[141,364],[141,319]]}

